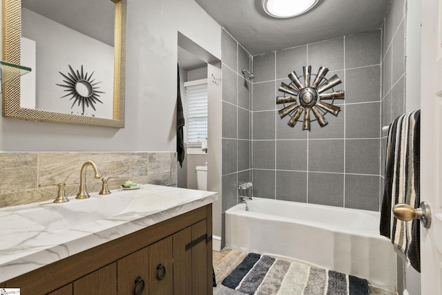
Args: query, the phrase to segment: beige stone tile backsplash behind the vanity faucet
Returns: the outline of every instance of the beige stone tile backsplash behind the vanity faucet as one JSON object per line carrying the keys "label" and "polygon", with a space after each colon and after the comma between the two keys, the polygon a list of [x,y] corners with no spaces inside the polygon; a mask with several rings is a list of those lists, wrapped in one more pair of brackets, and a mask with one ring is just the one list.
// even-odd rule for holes
{"label": "beige stone tile backsplash behind the vanity faucet", "polygon": [[[66,183],[66,196],[75,196],[80,169],[87,160],[99,166],[102,178],[111,177],[111,190],[128,179],[142,184],[177,184],[175,152],[0,153],[0,207],[55,199],[59,182]],[[89,193],[102,189],[102,180],[94,178],[92,167],[87,169],[86,182]]]}

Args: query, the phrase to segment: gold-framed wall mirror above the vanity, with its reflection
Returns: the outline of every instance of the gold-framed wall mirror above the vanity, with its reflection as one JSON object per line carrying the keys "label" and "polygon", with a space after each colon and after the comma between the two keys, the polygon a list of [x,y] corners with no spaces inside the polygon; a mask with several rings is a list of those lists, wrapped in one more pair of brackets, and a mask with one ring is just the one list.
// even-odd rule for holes
{"label": "gold-framed wall mirror above the vanity, with its reflection", "polygon": [[3,0],[3,60],[32,68],[4,84],[3,116],[124,127],[126,12],[127,0]]}

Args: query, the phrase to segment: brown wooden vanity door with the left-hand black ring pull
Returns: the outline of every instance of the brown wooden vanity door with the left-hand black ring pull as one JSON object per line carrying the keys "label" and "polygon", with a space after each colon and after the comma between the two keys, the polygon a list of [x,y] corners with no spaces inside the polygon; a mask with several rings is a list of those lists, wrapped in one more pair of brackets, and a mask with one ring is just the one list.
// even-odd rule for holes
{"label": "brown wooden vanity door with the left-hand black ring pull", "polygon": [[148,258],[146,247],[117,261],[118,295],[148,294]]}

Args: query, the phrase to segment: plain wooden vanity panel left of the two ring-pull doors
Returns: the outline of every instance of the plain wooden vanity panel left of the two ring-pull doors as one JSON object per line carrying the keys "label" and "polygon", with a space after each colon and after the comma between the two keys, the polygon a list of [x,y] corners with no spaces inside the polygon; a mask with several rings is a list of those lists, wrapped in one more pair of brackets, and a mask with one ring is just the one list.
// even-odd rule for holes
{"label": "plain wooden vanity panel left of the two ring-pull doors", "polygon": [[117,263],[97,269],[73,283],[73,295],[117,294]]}

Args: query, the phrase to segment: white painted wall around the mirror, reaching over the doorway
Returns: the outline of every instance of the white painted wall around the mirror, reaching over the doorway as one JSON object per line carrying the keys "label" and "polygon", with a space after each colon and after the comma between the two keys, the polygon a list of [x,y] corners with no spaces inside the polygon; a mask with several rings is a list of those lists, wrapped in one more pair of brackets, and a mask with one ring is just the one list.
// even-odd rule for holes
{"label": "white painted wall around the mirror, reaching over the doorway", "polygon": [[128,1],[126,127],[0,118],[0,151],[175,151],[177,31],[221,57],[221,27],[193,0]]}

